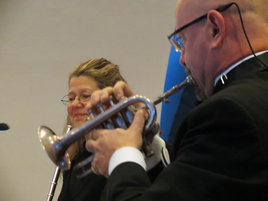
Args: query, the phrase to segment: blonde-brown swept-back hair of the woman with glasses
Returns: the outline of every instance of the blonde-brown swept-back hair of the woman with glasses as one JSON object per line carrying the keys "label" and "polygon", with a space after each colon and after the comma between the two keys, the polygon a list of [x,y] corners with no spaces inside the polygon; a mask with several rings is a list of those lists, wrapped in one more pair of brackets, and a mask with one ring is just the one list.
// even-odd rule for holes
{"label": "blonde-brown swept-back hair of the woman with glasses", "polygon": [[[104,58],[90,59],[86,62],[80,63],[70,73],[68,84],[70,83],[71,78],[79,76],[94,78],[94,80],[97,82],[97,86],[100,89],[114,86],[119,80],[125,82],[124,78],[119,72],[118,65],[113,64],[111,61],[108,61]],[[67,125],[73,126],[69,115],[67,117],[66,127]],[[84,141],[85,139],[83,137],[68,148],[67,152],[71,161],[85,150],[85,147],[83,146]]]}

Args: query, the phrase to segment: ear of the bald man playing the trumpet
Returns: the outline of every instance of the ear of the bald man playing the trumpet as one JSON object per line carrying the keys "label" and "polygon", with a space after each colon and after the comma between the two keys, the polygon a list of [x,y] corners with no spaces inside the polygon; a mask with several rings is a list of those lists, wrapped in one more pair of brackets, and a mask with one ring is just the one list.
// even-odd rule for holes
{"label": "ear of the bald man playing the trumpet", "polygon": [[220,47],[226,34],[223,16],[218,11],[211,10],[207,13],[207,22],[209,23],[209,38],[211,39],[211,48],[215,49]]}

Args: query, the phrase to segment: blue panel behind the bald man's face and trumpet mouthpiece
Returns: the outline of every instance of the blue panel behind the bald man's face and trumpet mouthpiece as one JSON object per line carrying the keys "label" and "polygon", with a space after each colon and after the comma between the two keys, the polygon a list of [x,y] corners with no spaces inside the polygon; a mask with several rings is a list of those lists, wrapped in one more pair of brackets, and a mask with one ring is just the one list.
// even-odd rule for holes
{"label": "blue panel behind the bald man's face and trumpet mouthpiece", "polygon": [[[171,48],[166,70],[164,92],[172,86],[181,83],[187,76],[183,66],[180,65],[180,56],[181,53]],[[196,98],[193,87],[187,86],[168,99],[171,100],[171,103],[162,103],[160,129],[163,132],[160,136],[172,142],[181,121],[194,107]]]}

